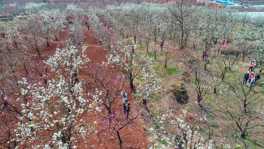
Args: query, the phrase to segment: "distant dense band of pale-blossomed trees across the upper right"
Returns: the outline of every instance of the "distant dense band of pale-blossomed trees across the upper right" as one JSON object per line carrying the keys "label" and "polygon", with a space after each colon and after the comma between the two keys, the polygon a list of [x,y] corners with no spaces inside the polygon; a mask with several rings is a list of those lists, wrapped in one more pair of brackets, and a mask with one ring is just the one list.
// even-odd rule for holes
{"label": "distant dense band of pale-blossomed trees across the upper right", "polygon": [[[120,37],[133,37],[134,42],[138,42],[140,46],[142,43],[146,44],[147,52],[153,50],[156,54],[163,50],[165,43],[180,49],[187,46],[194,49],[202,47],[207,53],[214,50],[222,54],[224,51],[221,52],[222,48],[218,43],[214,44],[214,41],[226,40],[237,48],[234,52],[239,53],[238,56],[242,56],[242,60],[245,56],[250,56],[256,60],[259,67],[263,66],[263,61],[256,56],[263,56],[261,17],[252,19],[249,15],[233,10],[187,5],[184,0],[167,5],[108,5],[104,11],[100,10],[98,15],[104,16],[105,21]],[[150,49],[152,43],[154,48]],[[207,55],[210,61],[213,61],[212,57],[214,55]]]}

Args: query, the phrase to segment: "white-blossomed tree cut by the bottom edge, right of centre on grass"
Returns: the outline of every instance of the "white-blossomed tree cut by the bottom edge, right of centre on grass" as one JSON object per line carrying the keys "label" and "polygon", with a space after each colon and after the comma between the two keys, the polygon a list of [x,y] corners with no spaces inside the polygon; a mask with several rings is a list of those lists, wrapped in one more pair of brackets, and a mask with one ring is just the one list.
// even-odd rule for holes
{"label": "white-blossomed tree cut by the bottom edge, right of centre on grass", "polygon": [[[154,146],[150,149],[168,149],[170,147],[179,147],[180,149],[214,149],[213,140],[203,136],[199,124],[206,123],[205,116],[197,116],[197,120],[188,121],[186,119],[187,111],[183,110],[182,115],[174,116],[172,109],[166,109],[157,117],[157,123],[149,131],[153,135],[150,141]],[[175,131],[176,130],[176,131]],[[176,135],[181,137],[176,139]],[[184,138],[184,135],[186,136]],[[222,149],[231,149],[226,145]]]}

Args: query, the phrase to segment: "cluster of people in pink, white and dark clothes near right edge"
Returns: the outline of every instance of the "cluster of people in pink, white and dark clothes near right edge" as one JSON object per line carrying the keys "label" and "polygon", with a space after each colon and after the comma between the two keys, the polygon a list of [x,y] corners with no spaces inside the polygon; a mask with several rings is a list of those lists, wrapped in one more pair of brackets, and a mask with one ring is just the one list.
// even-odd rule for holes
{"label": "cluster of people in pink, white and dark clothes near right edge", "polygon": [[246,85],[247,80],[248,80],[248,83],[250,85],[250,89],[252,88],[252,86],[254,86],[256,84],[256,82],[258,80],[260,80],[260,74],[257,73],[257,75],[255,75],[253,72],[254,67],[255,67],[254,61],[251,61],[250,65],[249,65],[249,69],[248,69],[248,71],[250,71],[251,73],[247,72],[246,74],[244,74],[244,77],[243,77],[243,84]]}

